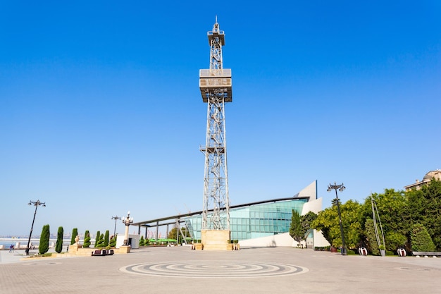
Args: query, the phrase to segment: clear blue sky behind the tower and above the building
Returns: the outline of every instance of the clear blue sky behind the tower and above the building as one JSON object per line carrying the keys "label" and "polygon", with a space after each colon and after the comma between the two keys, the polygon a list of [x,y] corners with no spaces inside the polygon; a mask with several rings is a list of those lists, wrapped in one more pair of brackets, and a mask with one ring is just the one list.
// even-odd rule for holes
{"label": "clear blue sky behind the tower and above the building", "polygon": [[402,190],[441,169],[440,15],[437,0],[0,1],[0,235],[28,234],[37,199],[36,234],[201,210],[216,16],[232,204],[313,180],[324,207],[329,183],[344,202]]}

